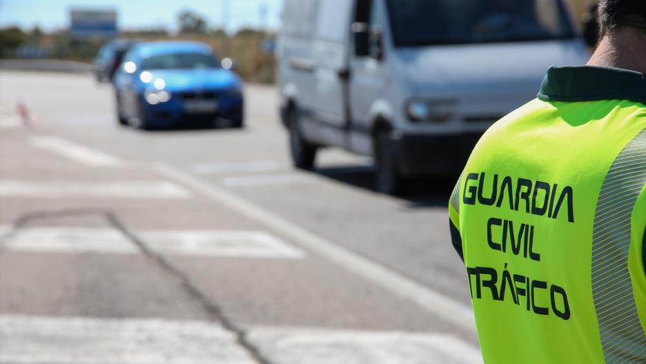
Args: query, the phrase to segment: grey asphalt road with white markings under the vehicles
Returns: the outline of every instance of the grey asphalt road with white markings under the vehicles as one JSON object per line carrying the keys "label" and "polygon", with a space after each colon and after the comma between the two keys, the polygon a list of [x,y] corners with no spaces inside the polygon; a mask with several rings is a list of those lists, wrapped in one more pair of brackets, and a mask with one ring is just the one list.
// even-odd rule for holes
{"label": "grey asphalt road with white markings under the vehicles", "polygon": [[242,130],[141,132],[89,75],[0,73],[0,363],[481,362],[451,183],[295,171],[245,94]]}

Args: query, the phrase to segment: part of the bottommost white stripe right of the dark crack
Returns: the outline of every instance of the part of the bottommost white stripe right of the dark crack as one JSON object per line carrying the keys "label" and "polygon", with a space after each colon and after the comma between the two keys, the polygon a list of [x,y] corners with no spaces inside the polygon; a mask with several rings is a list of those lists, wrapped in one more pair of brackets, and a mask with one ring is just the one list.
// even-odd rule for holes
{"label": "part of the bottommost white stripe right of the dark crack", "polygon": [[280,364],[478,364],[482,355],[455,336],[252,327],[247,338]]}

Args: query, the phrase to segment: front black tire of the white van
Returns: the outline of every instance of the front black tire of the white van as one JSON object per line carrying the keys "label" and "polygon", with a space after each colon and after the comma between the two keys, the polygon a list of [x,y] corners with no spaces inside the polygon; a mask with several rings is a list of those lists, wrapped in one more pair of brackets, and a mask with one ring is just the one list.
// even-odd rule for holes
{"label": "front black tire of the white van", "polygon": [[381,127],[375,133],[375,189],[380,193],[395,195],[404,189],[404,178],[398,171],[395,148],[390,139],[390,129]]}

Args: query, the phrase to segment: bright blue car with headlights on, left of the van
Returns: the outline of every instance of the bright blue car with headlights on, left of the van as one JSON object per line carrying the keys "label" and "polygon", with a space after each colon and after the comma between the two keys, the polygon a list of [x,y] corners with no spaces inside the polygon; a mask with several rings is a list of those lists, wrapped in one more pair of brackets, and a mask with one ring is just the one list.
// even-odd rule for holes
{"label": "bright blue car with headlights on, left of the van", "polygon": [[242,82],[206,44],[140,43],[114,79],[119,124],[144,130],[244,123]]}

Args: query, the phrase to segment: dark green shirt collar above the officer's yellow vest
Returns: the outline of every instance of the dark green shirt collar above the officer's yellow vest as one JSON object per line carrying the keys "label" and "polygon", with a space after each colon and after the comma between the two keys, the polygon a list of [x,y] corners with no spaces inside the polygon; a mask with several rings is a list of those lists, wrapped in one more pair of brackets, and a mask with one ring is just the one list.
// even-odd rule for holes
{"label": "dark green shirt collar above the officer's yellow vest", "polygon": [[564,102],[620,99],[646,104],[646,74],[622,68],[552,66],[538,98]]}

